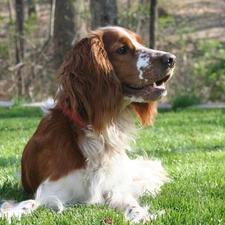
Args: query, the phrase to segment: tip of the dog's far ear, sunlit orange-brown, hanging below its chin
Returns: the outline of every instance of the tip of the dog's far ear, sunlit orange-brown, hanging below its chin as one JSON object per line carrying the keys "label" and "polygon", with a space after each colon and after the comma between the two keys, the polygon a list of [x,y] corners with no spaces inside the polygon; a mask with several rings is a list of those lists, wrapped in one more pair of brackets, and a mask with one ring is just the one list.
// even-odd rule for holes
{"label": "tip of the dog's far ear, sunlit orange-brown, hanging below its chin", "polygon": [[142,125],[153,125],[153,121],[157,115],[156,102],[134,102],[132,103],[132,106]]}

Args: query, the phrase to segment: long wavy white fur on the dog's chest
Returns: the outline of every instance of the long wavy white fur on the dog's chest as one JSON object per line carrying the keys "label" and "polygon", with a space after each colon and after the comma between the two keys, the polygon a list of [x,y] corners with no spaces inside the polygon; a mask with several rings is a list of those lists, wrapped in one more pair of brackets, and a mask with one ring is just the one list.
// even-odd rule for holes
{"label": "long wavy white fur on the dog's chest", "polygon": [[130,160],[125,152],[129,148],[126,141],[124,135],[115,130],[108,130],[99,137],[92,132],[85,134],[81,142],[86,157],[84,185],[95,203],[103,202],[106,193],[128,188],[131,177],[126,166]]}

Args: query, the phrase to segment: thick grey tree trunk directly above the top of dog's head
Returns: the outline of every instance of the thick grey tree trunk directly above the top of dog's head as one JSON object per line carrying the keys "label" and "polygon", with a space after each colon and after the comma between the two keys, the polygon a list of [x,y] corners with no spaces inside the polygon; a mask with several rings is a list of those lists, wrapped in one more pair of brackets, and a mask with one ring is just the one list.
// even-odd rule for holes
{"label": "thick grey tree trunk directly above the top of dog's head", "polygon": [[116,0],[91,0],[91,28],[117,25]]}

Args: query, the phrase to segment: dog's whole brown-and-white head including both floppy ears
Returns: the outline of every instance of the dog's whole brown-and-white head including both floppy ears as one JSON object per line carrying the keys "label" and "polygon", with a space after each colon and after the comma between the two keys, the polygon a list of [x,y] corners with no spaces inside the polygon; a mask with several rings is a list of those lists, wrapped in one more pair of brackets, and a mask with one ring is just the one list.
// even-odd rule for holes
{"label": "dog's whole brown-and-white head including both floppy ears", "polygon": [[125,104],[151,124],[155,101],[167,94],[176,57],[142,45],[135,33],[104,27],[78,42],[60,69],[60,104],[101,131]]}

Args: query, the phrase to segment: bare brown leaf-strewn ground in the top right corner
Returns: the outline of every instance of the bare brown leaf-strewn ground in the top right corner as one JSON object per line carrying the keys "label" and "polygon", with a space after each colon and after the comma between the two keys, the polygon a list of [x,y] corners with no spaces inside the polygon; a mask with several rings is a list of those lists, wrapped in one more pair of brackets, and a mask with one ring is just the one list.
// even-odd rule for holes
{"label": "bare brown leaf-strewn ground in the top right corner", "polygon": [[[184,26],[185,22],[189,27],[186,35],[192,39],[212,38],[225,41],[225,0],[163,0],[162,2],[162,6],[168,9],[168,13],[177,21],[175,29]],[[169,30],[165,29],[165,32]]]}

